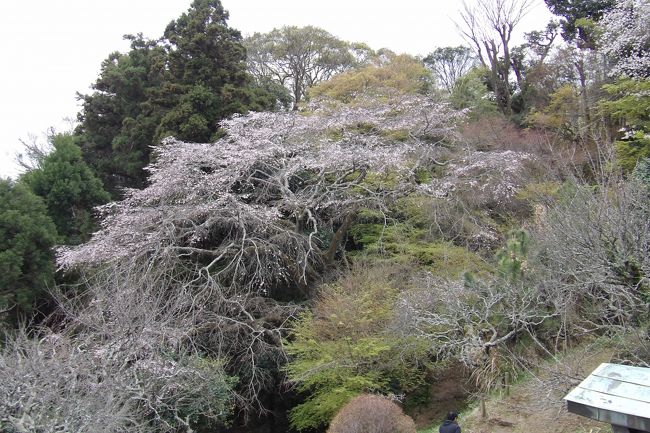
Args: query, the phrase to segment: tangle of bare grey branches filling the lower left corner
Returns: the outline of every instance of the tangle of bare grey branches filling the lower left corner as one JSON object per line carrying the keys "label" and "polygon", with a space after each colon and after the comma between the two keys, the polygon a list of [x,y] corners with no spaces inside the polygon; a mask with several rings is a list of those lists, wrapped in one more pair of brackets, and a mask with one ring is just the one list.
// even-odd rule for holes
{"label": "tangle of bare grey branches filling the lower left corner", "polygon": [[146,271],[106,268],[82,296],[58,295],[62,323],[6,336],[3,423],[18,432],[190,432],[228,415],[233,381],[198,338],[214,287],[190,291]]}

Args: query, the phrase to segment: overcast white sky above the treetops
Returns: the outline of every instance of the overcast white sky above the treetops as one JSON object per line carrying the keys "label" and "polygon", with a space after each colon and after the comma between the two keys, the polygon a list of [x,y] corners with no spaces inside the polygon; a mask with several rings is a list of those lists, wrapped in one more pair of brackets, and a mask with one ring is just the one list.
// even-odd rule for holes
{"label": "overcast white sky above the treetops", "polygon": [[[471,1],[471,0],[470,0]],[[126,51],[122,35],[156,38],[191,0],[0,0],[0,177],[15,176],[19,139],[66,130],[100,64]],[[460,0],[222,0],[229,25],[248,35],[283,25],[315,25],[341,39],[425,55],[459,45],[453,20]],[[520,24],[541,29],[550,18],[539,4]]]}

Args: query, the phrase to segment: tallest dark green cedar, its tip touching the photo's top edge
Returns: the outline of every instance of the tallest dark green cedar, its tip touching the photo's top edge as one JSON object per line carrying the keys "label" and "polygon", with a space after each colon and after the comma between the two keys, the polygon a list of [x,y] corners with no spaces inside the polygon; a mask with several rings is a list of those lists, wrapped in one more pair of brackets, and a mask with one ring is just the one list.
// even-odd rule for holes
{"label": "tallest dark green cedar, its tip touching the photo's top edge", "polygon": [[275,97],[253,85],[239,31],[228,27],[228,12],[218,0],[194,0],[164,33],[171,106],[156,131],[185,141],[218,137],[218,122],[234,113],[275,108]]}

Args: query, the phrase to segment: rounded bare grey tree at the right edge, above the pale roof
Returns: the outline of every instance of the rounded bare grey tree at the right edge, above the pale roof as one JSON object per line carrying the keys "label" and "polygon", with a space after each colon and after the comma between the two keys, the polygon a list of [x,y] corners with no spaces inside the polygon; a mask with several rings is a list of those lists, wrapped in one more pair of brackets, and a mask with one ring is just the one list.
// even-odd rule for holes
{"label": "rounded bare grey tree at the right edge, above the pale roof", "polygon": [[634,324],[648,311],[648,191],[619,181],[574,188],[533,231],[540,290],[566,335]]}

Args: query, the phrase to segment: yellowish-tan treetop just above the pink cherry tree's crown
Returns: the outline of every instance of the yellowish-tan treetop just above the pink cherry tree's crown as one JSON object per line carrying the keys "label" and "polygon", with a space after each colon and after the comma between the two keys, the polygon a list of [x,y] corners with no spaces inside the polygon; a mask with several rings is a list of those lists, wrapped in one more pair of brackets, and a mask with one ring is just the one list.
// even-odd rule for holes
{"label": "yellowish-tan treetop just above the pink cherry tree's crown", "polygon": [[312,87],[309,96],[326,96],[349,103],[362,96],[422,93],[430,81],[431,75],[422,62],[402,54],[385,65],[370,65],[336,75]]}

